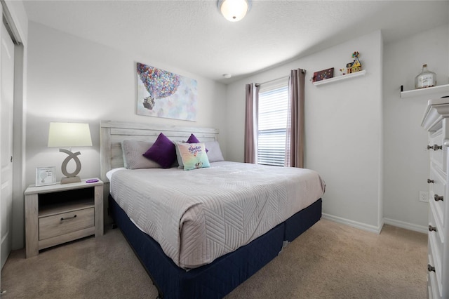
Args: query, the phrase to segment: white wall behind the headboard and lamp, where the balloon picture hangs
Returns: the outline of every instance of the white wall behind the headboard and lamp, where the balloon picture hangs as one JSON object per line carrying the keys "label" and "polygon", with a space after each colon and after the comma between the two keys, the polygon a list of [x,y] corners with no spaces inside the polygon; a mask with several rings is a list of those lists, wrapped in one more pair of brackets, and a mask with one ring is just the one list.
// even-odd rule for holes
{"label": "white wall behind the headboard and lamp, where the balloon picture hangs", "polygon": [[[135,63],[142,62],[196,79],[197,121],[145,117],[135,113]],[[100,175],[100,120],[146,122],[173,126],[218,128],[225,139],[226,87],[210,79],[166,65],[151,57],[123,53],[58,30],[29,23],[26,181],[34,184],[35,169],[57,166],[65,154],[48,148],[50,121],[80,121],[91,126],[93,147],[80,148],[82,178]],[[226,156],[225,145],[222,148]]]}

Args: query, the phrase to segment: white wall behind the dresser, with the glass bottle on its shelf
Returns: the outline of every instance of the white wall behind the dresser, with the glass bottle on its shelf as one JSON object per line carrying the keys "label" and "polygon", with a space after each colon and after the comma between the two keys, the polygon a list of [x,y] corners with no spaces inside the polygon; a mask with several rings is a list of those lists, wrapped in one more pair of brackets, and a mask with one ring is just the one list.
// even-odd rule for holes
{"label": "white wall behind the dresser, with the glass bottle on its shelf", "polygon": [[437,85],[449,84],[449,27],[437,27],[384,46],[384,217],[387,223],[416,230],[427,226],[427,132],[421,127],[429,97],[400,98],[415,88],[415,76],[427,64]]}

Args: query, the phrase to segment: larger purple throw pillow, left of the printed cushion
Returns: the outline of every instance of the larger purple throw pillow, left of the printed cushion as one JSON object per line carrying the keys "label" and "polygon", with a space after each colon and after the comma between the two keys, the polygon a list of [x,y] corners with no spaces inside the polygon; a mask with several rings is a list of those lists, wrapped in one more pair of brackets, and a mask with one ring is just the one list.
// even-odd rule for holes
{"label": "larger purple throw pillow, left of the printed cushion", "polygon": [[157,162],[162,168],[170,168],[176,160],[175,144],[166,135],[160,133],[154,145],[143,156]]}

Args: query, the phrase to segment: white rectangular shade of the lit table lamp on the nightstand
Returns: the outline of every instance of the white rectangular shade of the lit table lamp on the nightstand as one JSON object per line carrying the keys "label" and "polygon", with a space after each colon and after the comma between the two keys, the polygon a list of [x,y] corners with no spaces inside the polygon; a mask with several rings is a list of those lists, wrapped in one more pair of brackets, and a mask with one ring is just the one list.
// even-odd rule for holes
{"label": "white rectangular shade of the lit table lamp on the nightstand", "polygon": [[90,147],[92,146],[89,124],[50,123],[48,147]]}

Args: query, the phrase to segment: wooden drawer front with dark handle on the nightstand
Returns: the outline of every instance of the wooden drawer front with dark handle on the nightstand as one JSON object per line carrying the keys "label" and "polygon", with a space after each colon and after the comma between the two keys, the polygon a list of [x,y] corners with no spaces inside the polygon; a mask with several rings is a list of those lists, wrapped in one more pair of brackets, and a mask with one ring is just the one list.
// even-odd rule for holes
{"label": "wooden drawer front with dark handle on the nightstand", "polygon": [[76,232],[95,225],[94,208],[39,218],[39,240]]}

